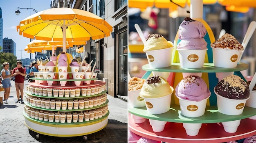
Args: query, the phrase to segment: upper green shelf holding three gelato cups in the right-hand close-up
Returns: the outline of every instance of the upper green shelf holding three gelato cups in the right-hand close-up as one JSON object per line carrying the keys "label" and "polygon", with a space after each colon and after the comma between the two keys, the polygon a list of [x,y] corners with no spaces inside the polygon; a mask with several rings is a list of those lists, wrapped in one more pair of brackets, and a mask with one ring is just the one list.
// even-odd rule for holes
{"label": "upper green shelf holding three gelato cups in the right-hand close-up", "polygon": [[249,65],[239,62],[235,68],[223,68],[223,67],[214,67],[213,63],[204,63],[204,67],[197,69],[182,68],[180,63],[172,63],[170,67],[162,68],[151,68],[149,64],[143,65],[142,69],[145,71],[151,72],[207,72],[207,73],[216,73],[216,72],[238,72],[245,69],[248,69]]}

